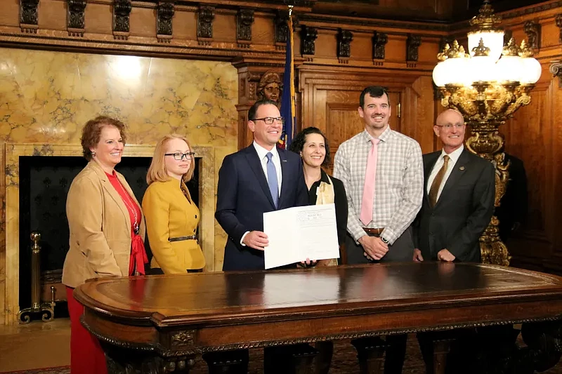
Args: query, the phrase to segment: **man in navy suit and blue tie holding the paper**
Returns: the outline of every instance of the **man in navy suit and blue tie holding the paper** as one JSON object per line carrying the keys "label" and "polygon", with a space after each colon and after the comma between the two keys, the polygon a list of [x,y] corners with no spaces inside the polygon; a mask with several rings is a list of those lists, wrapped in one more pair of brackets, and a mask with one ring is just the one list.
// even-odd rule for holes
{"label": "man in navy suit and blue tie holding the paper", "polygon": [[299,155],[277,147],[282,126],[275,102],[257,101],[248,111],[253,144],[226,156],[218,171],[215,218],[228,234],[224,271],[265,269],[263,213],[308,205]]}

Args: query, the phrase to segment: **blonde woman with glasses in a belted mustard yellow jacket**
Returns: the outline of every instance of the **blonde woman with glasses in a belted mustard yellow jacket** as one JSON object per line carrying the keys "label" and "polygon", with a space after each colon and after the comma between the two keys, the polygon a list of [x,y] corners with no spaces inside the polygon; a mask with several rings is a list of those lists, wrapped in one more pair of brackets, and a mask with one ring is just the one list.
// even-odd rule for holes
{"label": "blonde woman with glasses in a belted mustard yellow jacket", "polygon": [[197,241],[200,212],[185,186],[195,170],[194,154],[188,140],[180,135],[166,135],[156,145],[143,197],[154,255],[150,274],[201,272],[205,266]]}

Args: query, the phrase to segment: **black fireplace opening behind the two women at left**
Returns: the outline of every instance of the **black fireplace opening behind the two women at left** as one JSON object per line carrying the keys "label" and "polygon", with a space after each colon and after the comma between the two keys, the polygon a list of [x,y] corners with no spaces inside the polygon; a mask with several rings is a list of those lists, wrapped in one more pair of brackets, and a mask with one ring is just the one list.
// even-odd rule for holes
{"label": "black fireplace opening behind the two women at left", "polygon": [[[152,157],[123,157],[115,167],[131,186],[139,202],[143,201],[146,173]],[[55,318],[68,316],[65,287],[60,283],[63,264],[68,251],[68,220],[66,198],[74,177],[87,161],[77,156],[20,156],[20,309],[32,305],[31,259],[32,232],[39,232],[41,240],[41,300],[51,300],[51,286],[55,286]],[[188,182],[193,201],[199,206],[199,166],[195,159],[195,173]],[[148,238],[145,247],[152,259]]]}

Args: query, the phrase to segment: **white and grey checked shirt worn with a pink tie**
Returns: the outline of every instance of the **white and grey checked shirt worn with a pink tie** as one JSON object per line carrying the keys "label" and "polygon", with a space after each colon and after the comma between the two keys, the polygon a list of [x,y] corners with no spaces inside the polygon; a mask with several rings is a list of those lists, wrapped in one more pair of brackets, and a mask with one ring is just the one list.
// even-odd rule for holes
{"label": "white and grey checked shirt worn with a pink tie", "polygon": [[[418,142],[390,127],[379,137],[374,182],[373,218],[367,227],[384,227],[391,244],[413,222],[424,196],[424,167]],[[346,187],[349,215],[347,231],[357,241],[365,235],[359,220],[371,135],[363,131],[343,142],[334,157],[334,177]]]}

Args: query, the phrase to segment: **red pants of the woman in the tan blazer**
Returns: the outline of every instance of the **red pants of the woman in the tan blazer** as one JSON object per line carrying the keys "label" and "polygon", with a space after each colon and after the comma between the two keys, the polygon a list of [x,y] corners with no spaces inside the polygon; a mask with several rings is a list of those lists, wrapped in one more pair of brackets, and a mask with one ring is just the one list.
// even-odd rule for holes
{"label": "red pants of the woman in the tan blazer", "polygon": [[98,339],[80,323],[84,306],[74,299],[74,288],[66,288],[70,314],[70,374],[107,374],[105,354]]}

